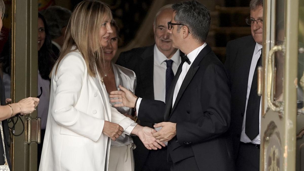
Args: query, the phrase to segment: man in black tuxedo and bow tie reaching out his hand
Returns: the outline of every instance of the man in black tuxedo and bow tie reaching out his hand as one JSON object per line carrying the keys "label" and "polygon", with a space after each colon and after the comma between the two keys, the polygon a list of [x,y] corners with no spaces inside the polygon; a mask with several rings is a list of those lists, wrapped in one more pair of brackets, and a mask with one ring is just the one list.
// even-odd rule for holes
{"label": "man in black tuxedo and bow tie reaching out his hand", "polygon": [[132,106],[141,120],[162,127],[153,136],[168,142],[171,170],[234,170],[232,146],[225,136],[230,124],[230,90],[223,64],[205,43],[209,10],[197,1],[172,5],[168,33],[184,54],[166,104],[137,98],[130,91],[111,92],[117,106]]}

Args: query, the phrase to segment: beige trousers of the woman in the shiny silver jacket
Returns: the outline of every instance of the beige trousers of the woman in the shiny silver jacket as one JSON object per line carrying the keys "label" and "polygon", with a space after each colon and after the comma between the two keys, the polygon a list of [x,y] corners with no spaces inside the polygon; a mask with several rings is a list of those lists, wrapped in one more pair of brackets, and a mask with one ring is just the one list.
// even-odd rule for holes
{"label": "beige trousers of the woman in the shiny silver jacket", "polygon": [[133,143],[110,147],[109,171],[134,171]]}

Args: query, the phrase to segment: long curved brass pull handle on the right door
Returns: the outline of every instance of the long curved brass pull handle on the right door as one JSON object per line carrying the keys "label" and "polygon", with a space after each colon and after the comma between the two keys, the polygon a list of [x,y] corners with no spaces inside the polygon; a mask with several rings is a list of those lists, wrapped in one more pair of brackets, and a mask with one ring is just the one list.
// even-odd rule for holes
{"label": "long curved brass pull handle on the right door", "polygon": [[[283,45],[278,45],[278,46],[274,46],[270,49],[269,54],[268,54],[268,67],[267,67],[267,102],[268,102],[268,106],[271,110],[275,111],[275,112],[279,112],[282,113],[283,111],[283,105],[282,103],[279,103],[277,101],[274,101],[273,99],[273,68],[274,68],[274,62],[273,62],[273,54],[277,51],[283,51],[284,46]],[[275,86],[275,85],[274,85]]]}

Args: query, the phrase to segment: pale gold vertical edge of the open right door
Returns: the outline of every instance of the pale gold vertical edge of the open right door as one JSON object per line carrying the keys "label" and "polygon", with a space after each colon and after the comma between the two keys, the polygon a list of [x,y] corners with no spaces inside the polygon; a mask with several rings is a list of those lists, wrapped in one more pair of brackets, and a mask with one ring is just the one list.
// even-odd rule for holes
{"label": "pale gold vertical edge of the open right door", "polygon": [[285,0],[284,155],[283,170],[296,169],[296,117],[299,0]]}

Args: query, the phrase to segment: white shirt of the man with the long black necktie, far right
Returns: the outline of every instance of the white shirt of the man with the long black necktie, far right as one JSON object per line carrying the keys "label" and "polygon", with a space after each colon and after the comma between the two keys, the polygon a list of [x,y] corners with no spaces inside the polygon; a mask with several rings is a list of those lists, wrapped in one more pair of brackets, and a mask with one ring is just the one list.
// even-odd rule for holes
{"label": "white shirt of the man with the long black necktie, far right", "polygon": [[240,141],[245,142],[245,143],[253,143],[253,144],[260,144],[261,143],[261,101],[260,101],[260,112],[259,112],[259,134],[257,135],[254,140],[250,140],[248,136],[245,133],[245,123],[246,123],[246,110],[247,110],[247,103],[248,103],[248,98],[249,98],[249,93],[250,93],[250,88],[251,88],[251,83],[253,79],[253,74],[255,67],[257,66],[257,61],[260,58],[262,53],[262,45],[256,43],[255,44],[255,49],[253,52],[252,60],[251,60],[251,65],[250,65],[250,71],[249,71],[249,76],[248,76],[248,86],[247,86],[247,96],[246,96],[246,106],[245,106],[245,112],[244,112],[244,120],[243,120],[243,125],[242,125],[242,133],[241,133],[241,138]]}

